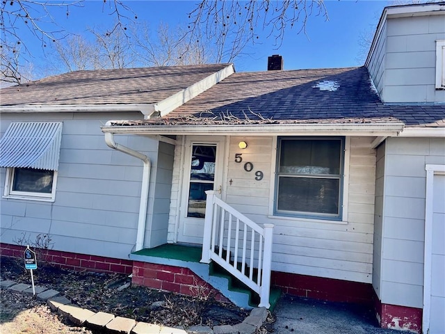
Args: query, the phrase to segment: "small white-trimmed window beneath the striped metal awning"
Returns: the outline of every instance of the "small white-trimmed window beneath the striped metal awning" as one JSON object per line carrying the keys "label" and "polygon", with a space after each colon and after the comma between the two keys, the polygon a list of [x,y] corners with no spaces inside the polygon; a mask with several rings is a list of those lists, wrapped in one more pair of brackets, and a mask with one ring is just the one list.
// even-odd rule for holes
{"label": "small white-trimmed window beneath the striped metal awning", "polygon": [[6,198],[54,200],[57,172],[35,168],[8,168]]}

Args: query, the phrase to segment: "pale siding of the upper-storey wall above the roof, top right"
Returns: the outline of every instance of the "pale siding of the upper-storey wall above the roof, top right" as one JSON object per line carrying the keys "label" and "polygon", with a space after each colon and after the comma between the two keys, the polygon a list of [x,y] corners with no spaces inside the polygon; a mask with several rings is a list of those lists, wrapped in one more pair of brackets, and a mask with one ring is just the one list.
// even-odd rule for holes
{"label": "pale siding of the upper-storey wall above the roof, top right", "polygon": [[[437,81],[443,67],[437,67],[436,40],[445,40],[444,21],[445,13],[387,19],[386,36],[381,37],[386,40],[385,57],[380,63],[385,67],[380,71],[384,72],[382,84],[379,77],[375,77],[380,76],[380,72],[369,67],[378,81],[375,84],[383,102],[445,101],[445,90],[436,89],[442,87],[437,86],[438,83],[443,84]],[[374,67],[379,64],[377,56],[373,57]]]}

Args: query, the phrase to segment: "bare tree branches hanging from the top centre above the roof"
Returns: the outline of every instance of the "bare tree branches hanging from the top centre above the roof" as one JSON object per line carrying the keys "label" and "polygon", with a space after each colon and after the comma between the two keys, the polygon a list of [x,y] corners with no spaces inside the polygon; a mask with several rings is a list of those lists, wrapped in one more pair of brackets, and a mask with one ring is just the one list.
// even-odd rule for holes
{"label": "bare tree branches hanging from the top centre above the roof", "polygon": [[[261,42],[258,31],[266,31],[280,47],[286,27],[306,32],[309,16],[327,19],[323,0],[202,0],[189,14],[189,40],[203,32],[220,47],[220,60],[232,61],[246,45]],[[230,36],[230,38],[227,38]]]}

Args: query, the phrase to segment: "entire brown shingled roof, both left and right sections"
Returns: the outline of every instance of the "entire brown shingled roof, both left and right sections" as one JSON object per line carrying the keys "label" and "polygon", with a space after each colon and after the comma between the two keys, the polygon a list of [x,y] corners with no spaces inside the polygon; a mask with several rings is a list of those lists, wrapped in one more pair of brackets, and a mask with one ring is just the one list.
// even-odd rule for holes
{"label": "entire brown shingled roof, both left and right sections", "polygon": [[[156,103],[227,65],[71,72],[3,88],[1,105]],[[275,124],[400,120],[405,125],[445,127],[445,104],[383,104],[366,67],[239,72],[164,118],[120,124],[228,125],[243,124],[246,116],[250,124],[260,118]]]}

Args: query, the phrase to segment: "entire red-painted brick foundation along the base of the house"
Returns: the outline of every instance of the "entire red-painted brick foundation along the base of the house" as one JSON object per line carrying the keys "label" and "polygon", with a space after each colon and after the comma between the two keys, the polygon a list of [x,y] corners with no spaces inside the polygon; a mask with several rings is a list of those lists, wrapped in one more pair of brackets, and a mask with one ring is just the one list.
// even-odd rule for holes
{"label": "entire red-painted brick foundation along the base of the house", "polygon": [[[3,256],[22,258],[24,249],[24,246],[0,243],[0,254]],[[227,301],[225,296],[188,268],[59,250],[41,250],[38,252],[39,260],[51,262],[65,269],[133,273],[133,285],[143,285],[187,296],[214,294],[217,300]],[[421,309],[382,304],[375,296],[370,284],[277,271],[272,273],[271,284],[280,288],[284,294],[311,299],[369,304],[374,301],[374,308],[380,326],[421,333]]]}

